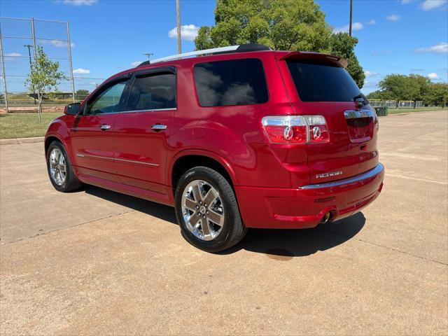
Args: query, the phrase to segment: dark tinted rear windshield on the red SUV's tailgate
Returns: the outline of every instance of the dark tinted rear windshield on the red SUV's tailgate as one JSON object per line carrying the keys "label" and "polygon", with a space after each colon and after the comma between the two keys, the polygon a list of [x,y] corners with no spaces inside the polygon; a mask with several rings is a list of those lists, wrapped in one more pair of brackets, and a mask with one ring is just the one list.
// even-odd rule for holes
{"label": "dark tinted rear windshield on the red SUV's tailgate", "polygon": [[353,102],[361,92],[349,73],[339,66],[309,61],[288,61],[302,102]]}

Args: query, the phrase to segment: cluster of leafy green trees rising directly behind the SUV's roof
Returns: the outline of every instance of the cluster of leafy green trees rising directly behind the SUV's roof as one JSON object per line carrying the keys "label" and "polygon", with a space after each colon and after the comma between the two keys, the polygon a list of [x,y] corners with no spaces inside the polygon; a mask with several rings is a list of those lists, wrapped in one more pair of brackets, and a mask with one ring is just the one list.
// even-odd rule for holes
{"label": "cluster of leafy green trees rising directly behind the SUV's roof", "polygon": [[363,68],[353,51],[358,39],[332,34],[314,0],[218,0],[215,25],[200,27],[196,50],[243,43],[335,53],[349,60],[347,71],[358,86],[364,84]]}

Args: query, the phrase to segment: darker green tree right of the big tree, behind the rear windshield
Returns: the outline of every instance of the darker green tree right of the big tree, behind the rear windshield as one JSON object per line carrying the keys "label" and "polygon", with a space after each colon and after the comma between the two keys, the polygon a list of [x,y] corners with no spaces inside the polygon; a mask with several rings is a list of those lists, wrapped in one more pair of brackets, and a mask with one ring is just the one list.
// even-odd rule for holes
{"label": "darker green tree right of the big tree, behind the rear windshield", "polygon": [[330,54],[347,59],[349,65],[346,70],[349,71],[358,87],[363,87],[365,74],[355,55],[356,44],[358,44],[358,38],[349,36],[347,33],[332,34],[330,37]]}

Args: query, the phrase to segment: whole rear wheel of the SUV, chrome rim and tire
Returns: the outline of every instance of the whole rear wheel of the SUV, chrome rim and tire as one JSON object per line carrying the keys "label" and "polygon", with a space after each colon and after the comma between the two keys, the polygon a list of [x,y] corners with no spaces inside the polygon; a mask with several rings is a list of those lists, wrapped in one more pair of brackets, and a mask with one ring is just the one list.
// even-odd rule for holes
{"label": "whole rear wheel of the SUV, chrome rim and tire", "polygon": [[188,170],[177,184],[175,197],[182,235],[193,246],[207,252],[223,251],[246,235],[235,193],[214,169]]}

